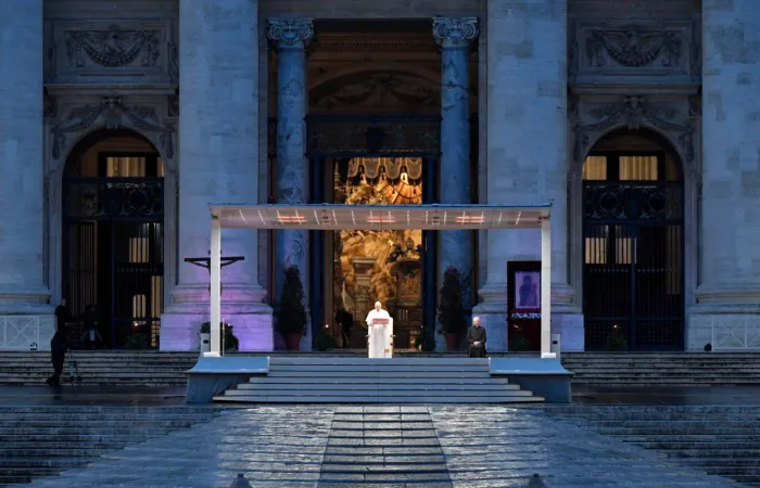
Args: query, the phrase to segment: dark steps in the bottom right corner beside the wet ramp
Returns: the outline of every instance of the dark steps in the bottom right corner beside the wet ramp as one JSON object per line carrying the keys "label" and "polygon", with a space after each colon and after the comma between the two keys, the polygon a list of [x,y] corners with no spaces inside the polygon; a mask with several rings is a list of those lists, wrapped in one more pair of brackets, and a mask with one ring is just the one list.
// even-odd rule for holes
{"label": "dark steps in the bottom right corner beside the wet ramp", "polygon": [[547,406],[577,425],[656,449],[684,466],[760,486],[760,406]]}

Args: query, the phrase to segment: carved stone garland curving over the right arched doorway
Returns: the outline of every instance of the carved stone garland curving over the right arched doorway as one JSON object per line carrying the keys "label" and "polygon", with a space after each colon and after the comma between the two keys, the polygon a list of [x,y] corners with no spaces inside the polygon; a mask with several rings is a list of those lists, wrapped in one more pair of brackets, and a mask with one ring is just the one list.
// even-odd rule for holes
{"label": "carved stone garland curving over the right arched doorway", "polygon": [[575,115],[571,116],[573,130],[573,158],[582,162],[590,146],[600,136],[612,128],[631,130],[643,128],[658,129],[667,133],[676,144],[684,164],[693,164],[696,158],[695,98],[680,106],[675,102],[649,100],[643,95],[625,95],[616,100],[597,103],[582,103],[575,99]]}

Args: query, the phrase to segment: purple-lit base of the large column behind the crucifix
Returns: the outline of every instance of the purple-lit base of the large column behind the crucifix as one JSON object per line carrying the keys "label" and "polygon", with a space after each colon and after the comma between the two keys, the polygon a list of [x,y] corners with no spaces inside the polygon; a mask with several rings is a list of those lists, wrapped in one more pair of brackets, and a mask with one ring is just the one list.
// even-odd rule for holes
{"label": "purple-lit base of the large column behind the crucifix", "polygon": [[[223,290],[221,318],[232,325],[240,351],[275,349],[271,307],[251,300],[264,296],[261,287],[225,285]],[[172,298],[174,303],[161,316],[161,350],[199,350],[199,331],[211,313],[208,286],[178,286]]]}

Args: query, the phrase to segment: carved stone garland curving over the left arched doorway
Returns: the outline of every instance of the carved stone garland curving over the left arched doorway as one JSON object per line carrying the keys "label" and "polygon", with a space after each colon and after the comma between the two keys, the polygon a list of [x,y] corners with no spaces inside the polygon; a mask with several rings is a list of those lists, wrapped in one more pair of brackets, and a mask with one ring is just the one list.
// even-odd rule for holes
{"label": "carved stone garland curving over the left arched doorway", "polygon": [[[160,134],[159,142],[164,150],[164,157],[169,159],[174,157],[175,128],[170,124],[162,125],[155,108],[130,106],[125,104],[121,97],[105,97],[98,105],[73,108],[65,121],[56,121],[53,125],[53,158],[61,157],[63,146],[66,143],[66,134],[88,129],[100,116],[104,117],[107,129],[136,127],[144,131],[157,132]],[[125,124],[125,118],[130,124]]]}

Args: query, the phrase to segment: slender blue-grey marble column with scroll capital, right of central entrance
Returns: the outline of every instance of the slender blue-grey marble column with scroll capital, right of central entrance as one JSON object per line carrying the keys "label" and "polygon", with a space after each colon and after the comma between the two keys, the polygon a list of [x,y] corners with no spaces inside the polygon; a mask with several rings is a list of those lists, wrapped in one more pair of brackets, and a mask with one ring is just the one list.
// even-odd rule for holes
{"label": "slender blue-grey marble column with scroll capital, right of central entrance", "polygon": [[[470,177],[470,43],[478,37],[476,17],[435,17],[433,36],[441,44],[441,203],[472,202]],[[466,308],[471,307],[472,232],[441,232],[441,277],[457,268],[468,284]]]}

